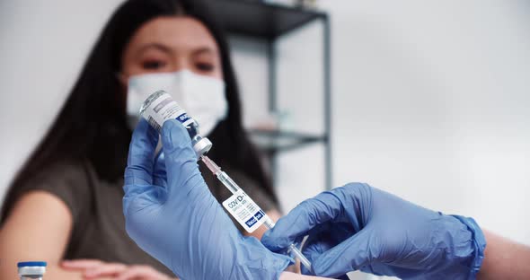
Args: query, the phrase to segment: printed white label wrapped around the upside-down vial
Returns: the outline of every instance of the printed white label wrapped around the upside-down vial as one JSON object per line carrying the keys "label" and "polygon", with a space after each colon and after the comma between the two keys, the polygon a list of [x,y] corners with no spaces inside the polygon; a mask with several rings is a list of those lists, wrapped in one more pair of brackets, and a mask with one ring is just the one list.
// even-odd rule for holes
{"label": "printed white label wrapped around the upside-down vial", "polygon": [[142,116],[158,131],[162,129],[164,121],[172,118],[180,121],[184,127],[188,127],[193,123],[193,119],[188,116],[186,110],[182,109],[176,101],[173,101],[172,96],[167,92],[152,101],[142,113]]}

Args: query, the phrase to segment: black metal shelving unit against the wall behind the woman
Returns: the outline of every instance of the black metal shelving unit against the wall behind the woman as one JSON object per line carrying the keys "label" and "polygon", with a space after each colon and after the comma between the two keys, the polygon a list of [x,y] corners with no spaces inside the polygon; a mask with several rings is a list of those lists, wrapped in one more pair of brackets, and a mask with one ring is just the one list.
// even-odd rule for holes
{"label": "black metal shelving unit against the wall behind the woman", "polygon": [[[331,189],[331,23],[327,13],[280,4],[266,4],[257,0],[207,0],[216,20],[229,35],[265,40],[269,65],[269,110],[278,110],[277,53],[275,43],[279,37],[296,31],[309,22],[322,22],[322,108],[324,132],[308,135],[295,131],[252,130],[253,141],[271,161],[271,171],[277,170],[275,155],[306,144],[322,143],[325,152],[325,186]],[[304,46],[301,46],[303,48]]]}

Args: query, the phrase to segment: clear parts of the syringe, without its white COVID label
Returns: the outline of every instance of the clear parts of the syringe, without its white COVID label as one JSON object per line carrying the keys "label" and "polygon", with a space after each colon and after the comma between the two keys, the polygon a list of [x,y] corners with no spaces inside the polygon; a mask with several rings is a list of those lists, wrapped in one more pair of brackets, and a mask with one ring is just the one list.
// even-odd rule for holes
{"label": "clear parts of the syringe, without its white COVID label", "polygon": [[[225,171],[221,171],[221,168],[216,164],[216,162],[212,161],[210,158],[208,158],[208,156],[203,154],[200,157],[200,160],[202,162],[204,162],[204,164],[208,167],[208,169],[210,171],[212,171],[212,173],[214,173],[214,175],[216,175],[217,179],[219,179],[223,183],[223,185],[225,185],[225,187],[230,190],[230,192],[235,194],[236,192],[238,192],[241,189],[234,182],[234,180],[231,179],[230,176],[228,176],[228,174],[226,174]],[[264,214],[262,219],[264,219],[263,224],[268,229],[271,229],[271,228],[274,227],[275,223],[269,218],[269,216],[267,214]],[[309,271],[312,271],[311,270],[311,262],[309,262],[309,259],[305,258],[305,256],[302,254],[300,249],[298,249],[296,247],[295,244],[289,245],[289,249],[290,249],[290,251],[293,252],[293,254],[295,254],[296,258],[300,259],[300,263],[302,263],[302,265],[304,265],[305,268],[307,268]]]}

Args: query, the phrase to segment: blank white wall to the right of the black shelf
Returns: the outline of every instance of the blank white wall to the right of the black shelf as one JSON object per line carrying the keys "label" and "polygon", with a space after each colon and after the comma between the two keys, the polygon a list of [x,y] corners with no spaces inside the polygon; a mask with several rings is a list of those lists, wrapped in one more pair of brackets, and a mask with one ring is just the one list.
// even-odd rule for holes
{"label": "blank white wall to the right of the black shelf", "polygon": [[530,244],[530,4],[322,4],[337,185],[367,181]]}

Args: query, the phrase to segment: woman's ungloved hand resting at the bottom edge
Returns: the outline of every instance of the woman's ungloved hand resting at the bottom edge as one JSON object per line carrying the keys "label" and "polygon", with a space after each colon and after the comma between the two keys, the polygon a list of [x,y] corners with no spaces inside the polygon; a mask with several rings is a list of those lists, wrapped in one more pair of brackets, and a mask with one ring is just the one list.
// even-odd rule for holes
{"label": "woman's ungloved hand resting at the bottom edge", "polygon": [[85,279],[112,277],[116,280],[170,280],[153,267],[144,265],[128,266],[121,263],[109,263],[98,259],[65,260],[61,267],[66,270],[82,271]]}

